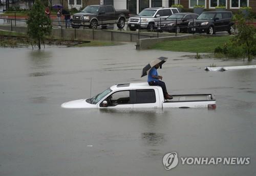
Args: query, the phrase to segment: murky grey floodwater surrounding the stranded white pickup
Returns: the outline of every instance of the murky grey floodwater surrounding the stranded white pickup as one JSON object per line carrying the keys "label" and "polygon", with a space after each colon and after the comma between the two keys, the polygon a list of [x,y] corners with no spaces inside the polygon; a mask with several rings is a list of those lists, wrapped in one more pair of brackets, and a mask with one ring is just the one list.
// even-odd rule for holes
{"label": "murky grey floodwater surrounding the stranded white pickup", "polygon": [[[66,48],[0,48],[0,175],[255,175],[256,69],[206,72],[253,62],[137,51],[135,43]],[[145,82],[159,70],[170,94],[212,93],[217,109],[62,109],[116,83]],[[92,84],[91,84],[92,80]],[[90,87],[92,87],[90,93]],[[249,165],[182,165],[163,156],[250,157]]]}

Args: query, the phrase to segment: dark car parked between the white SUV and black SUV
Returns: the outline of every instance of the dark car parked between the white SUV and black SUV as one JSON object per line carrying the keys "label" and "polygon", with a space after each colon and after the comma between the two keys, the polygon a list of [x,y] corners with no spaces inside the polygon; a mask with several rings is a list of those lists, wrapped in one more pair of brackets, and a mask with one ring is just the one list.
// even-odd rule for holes
{"label": "dark car parked between the white SUV and black SUV", "polygon": [[155,26],[160,31],[187,32],[187,24],[199,15],[196,13],[175,13],[161,21],[156,21]]}

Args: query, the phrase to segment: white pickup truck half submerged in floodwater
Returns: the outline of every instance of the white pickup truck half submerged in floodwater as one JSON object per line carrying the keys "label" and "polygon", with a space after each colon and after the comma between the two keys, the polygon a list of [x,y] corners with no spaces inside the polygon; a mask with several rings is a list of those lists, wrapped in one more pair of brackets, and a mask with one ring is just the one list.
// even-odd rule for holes
{"label": "white pickup truck half submerged in floodwater", "polygon": [[148,83],[114,85],[88,99],[66,102],[62,108],[216,108],[211,94],[172,95],[165,100],[160,86]]}

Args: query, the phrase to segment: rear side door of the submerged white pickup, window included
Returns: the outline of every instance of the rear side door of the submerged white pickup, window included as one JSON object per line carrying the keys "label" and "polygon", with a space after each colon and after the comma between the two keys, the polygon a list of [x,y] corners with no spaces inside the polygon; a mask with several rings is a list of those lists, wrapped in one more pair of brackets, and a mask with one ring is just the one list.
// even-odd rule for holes
{"label": "rear side door of the submerged white pickup, window included", "polygon": [[157,89],[132,90],[134,108],[160,108],[159,94]]}

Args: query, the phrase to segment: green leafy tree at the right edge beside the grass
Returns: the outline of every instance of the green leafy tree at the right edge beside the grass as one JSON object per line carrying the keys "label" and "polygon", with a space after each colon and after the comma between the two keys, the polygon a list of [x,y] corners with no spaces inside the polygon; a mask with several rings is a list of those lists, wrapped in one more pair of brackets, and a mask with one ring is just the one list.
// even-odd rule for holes
{"label": "green leafy tree at the right edge beside the grass", "polygon": [[234,20],[237,21],[238,34],[233,38],[233,43],[237,46],[242,46],[248,56],[248,60],[253,59],[253,49],[256,47],[256,29],[248,22],[252,22],[251,15],[244,15],[242,12],[234,15]]}

